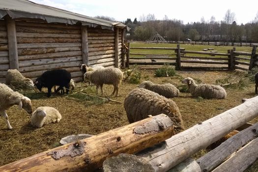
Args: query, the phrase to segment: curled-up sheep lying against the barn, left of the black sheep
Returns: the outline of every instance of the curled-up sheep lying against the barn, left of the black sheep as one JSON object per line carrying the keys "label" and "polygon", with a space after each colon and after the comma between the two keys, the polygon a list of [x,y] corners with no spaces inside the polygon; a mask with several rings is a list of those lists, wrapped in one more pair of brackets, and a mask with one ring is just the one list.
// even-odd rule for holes
{"label": "curled-up sheep lying against the barn, left of the black sheep", "polygon": [[25,78],[17,69],[7,70],[5,83],[15,88],[33,89],[33,81]]}

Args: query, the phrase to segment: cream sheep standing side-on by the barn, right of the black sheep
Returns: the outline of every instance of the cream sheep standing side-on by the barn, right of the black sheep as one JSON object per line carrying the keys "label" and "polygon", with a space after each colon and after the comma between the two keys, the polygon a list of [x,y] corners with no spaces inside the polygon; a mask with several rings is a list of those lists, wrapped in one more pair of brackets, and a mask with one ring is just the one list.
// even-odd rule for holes
{"label": "cream sheep standing side-on by the barn, right of the black sheep", "polygon": [[84,78],[96,85],[96,94],[98,94],[98,88],[100,86],[103,94],[103,85],[109,84],[114,86],[112,95],[118,96],[118,85],[123,79],[123,73],[117,68],[104,68],[96,71],[88,71],[84,74]]}

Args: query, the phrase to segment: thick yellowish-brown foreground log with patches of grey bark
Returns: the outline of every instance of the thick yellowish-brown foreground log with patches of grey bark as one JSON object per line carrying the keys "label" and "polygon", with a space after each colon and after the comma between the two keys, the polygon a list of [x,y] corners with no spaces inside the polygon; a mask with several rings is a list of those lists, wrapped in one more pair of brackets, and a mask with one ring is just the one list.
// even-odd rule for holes
{"label": "thick yellowish-brown foreground log with patches of grey bark", "polygon": [[[134,153],[172,136],[173,125],[166,115],[151,116],[90,138],[0,167],[0,172],[19,169],[27,172],[93,171],[119,153]],[[141,145],[141,146],[139,146]]]}

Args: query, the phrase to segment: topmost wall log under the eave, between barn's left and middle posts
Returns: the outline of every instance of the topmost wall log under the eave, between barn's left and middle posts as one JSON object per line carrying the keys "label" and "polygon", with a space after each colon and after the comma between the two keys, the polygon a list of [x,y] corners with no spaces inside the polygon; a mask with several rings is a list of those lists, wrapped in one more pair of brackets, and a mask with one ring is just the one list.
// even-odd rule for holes
{"label": "topmost wall log under the eave, between barn's left and middle posts", "polygon": [[41,27],[41,28],[61,28],[61,29],[81,29],[78,25],[66,25],[66,24],[52,24],[52,23],[43,23],[43,22],[24,22],[24,21],[15,21],[16,26],[24,27]]}

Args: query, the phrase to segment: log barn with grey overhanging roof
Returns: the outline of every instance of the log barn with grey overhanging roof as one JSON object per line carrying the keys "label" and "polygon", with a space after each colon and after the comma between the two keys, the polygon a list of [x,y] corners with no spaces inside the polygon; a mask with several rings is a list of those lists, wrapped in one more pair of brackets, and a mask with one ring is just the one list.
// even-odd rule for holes
{"label": "log barn with grey overhanging roof", "polygon": [[126,29],[119,22],[29,0],[1,0],[0,82],[5,82],[8,69],[34,80],[47,70],[63,68],[82,81],[82,63],[120,67]]}

